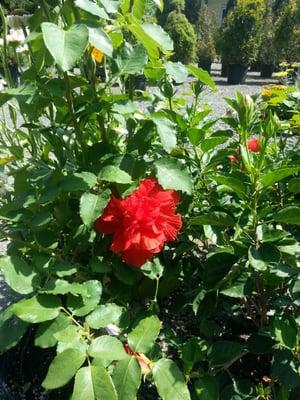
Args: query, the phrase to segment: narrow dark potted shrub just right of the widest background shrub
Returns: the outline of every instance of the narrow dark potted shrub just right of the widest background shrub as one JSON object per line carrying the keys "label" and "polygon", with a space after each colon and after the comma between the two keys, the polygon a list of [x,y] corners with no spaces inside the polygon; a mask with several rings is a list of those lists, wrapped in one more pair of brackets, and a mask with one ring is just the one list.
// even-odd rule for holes
{"label": "narrow dark potted shrub just right of the widest background shrub", "polygon": [[272,9],[272,3],[268,1],[264,14],[261,44],[257,60],[258,64],[260,65],[260,73],[262,78],[271,78],[275,69],[277,53],[275,50],[274,35],[274,13]]}

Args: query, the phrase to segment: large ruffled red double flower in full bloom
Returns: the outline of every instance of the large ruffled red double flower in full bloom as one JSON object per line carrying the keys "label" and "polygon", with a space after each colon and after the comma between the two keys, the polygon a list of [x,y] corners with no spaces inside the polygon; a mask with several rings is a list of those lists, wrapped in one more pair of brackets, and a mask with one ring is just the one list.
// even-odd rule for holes
{"label": "large ruffled red double flower in full bloom", "polygon": [[182,227],[176,214],[179,195],[163,190],[155,179],[144,179],[125,199],[112,196],[96,229],[113,234],[110,250],[134,267],[142,266],[159,253],[165,242],[176,239]]}

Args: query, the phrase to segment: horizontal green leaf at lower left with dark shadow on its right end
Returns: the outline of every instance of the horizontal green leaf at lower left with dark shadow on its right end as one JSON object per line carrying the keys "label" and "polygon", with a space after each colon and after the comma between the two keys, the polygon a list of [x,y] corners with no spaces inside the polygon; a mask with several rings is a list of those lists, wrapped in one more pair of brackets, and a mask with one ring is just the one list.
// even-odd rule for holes
{"label": "horizontal green leaf at lower left with dark shadow on its right end", "polygon": [[40,295],[13,304],[12,312],[23,321],[36,324],[56,318],[60,308],[59,298],[51,295]]}

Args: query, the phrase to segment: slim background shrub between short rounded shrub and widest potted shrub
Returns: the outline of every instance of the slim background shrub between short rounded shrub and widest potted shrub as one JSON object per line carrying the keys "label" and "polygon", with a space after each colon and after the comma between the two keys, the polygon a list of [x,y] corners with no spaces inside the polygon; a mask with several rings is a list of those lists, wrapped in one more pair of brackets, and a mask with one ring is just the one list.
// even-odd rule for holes
{"label": "slim background shrub between short rounded shrub and widest potted shrub", "polygon": [[207,5],[202,4],[196,24],[197,61],[199,67],[210,72],[211,64],[216,58],[215,36],[213,27],[216,26],[212,13]]}

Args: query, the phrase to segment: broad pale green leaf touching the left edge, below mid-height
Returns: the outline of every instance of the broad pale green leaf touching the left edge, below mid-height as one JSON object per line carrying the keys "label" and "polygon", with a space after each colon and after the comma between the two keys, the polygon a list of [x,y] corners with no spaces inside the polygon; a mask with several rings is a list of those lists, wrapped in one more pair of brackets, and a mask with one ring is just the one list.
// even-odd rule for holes
{"label": "broad pale green leaf touching the left edge, below mid-height", "polygon": [[15,292],[29,294],[39,285],[36,272],[17,256],[0,257],[0,272]]}

